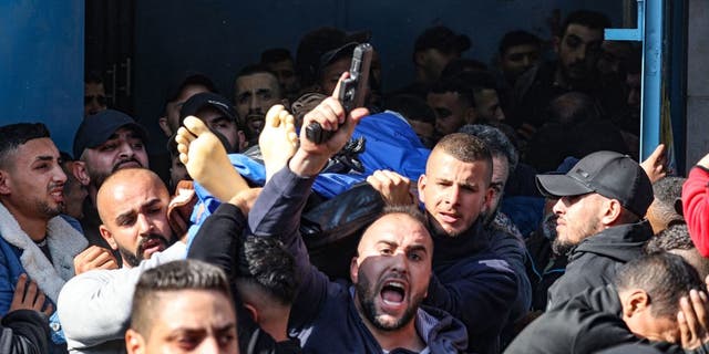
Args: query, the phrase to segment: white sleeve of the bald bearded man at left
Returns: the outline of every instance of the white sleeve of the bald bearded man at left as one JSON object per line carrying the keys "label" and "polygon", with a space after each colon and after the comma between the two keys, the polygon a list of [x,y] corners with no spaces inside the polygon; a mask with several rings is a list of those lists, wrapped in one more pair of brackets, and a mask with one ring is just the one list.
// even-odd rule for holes
{"label": "white sleeve of the bald bearded man at left", "polygon": [[176,242],[135,268],[93,270],[69,280],[59,294],[56,312],[70,348],[91,347],[123,339],[131,317],[133,291],[143,271],[185,259]]}

